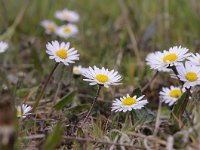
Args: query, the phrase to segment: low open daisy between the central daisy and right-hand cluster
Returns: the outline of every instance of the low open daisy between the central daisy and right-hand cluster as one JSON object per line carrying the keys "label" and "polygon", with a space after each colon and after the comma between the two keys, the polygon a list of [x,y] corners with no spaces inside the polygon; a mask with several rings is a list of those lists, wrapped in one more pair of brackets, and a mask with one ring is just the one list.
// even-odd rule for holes
{"label": "low open daisy between the central daisy and right-hand cluster", "polygon": [[115,99],[112,104],[112,111],[119,112],[119,111],[131,111],[133,109],[141,109],[148,103],[147,100],[144,100],[144,95],[137,98],[137,96],[130,97],[123,96],[120,99]]}

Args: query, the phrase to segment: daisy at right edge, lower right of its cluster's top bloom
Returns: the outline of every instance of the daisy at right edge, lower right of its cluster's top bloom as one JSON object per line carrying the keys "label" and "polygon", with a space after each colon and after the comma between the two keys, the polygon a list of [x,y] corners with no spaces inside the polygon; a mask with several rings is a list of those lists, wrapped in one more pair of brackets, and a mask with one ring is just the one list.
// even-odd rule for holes
{"label": "daisy at right edge, lower right of its cluster's top bloom", "polygon": [[192,65],[190,62],[186,62],[177,66],[178,77],[184,82],[184,88],[190,88],[196,85],[200,85],[200,67]]}

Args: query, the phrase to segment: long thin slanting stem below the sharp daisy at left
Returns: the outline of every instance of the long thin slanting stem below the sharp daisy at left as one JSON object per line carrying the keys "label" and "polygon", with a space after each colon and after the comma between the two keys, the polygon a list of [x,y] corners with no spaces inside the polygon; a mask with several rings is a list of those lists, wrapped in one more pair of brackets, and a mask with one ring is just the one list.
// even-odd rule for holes
{"label": "long thin slanting stem below the sharp daisy at left", "polygon": [[[53,67],[53,69],[52,69],[51,73],[49,74],[47,80],[45,81],[44,85],[41,87],[41,90],[39,91],[39,94],[36,96],[35,104],[34,104],[33,110],[32,110],[33,112],[35,112],[36,107],[38,106],[38,104],[39,104],[39,102],[40,102],[40,99],[43,97],[44,92],[45,92],[45,89],[46,89],[46,87],[47,87],[47,85],[48,85],[48,83],[49,83],[51,77],[53,76],[54,71],[55,71],[56,68],[58,67],[58,65],[59,65],[59,63],[56,63],[56,64],[55,64],[55,66]],[[40,86],[39,86],[39,88],[40,88]],[[39,88],[38,88],[38,89],[39,89]]]}

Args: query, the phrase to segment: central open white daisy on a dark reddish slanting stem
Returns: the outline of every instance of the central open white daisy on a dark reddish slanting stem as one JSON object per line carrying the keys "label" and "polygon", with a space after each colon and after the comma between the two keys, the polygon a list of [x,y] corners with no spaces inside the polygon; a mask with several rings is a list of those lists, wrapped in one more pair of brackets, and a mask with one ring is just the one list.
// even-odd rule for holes
{"label": "central open white daisy on a dark reddish slanting stem", "polygon": [[91,82],[90,85],[102,85],[106,88],[109,87],[109,85],[118,85],[121,81],[122,77],[118,74],[117,71],[103,68],[97,68],[94,66],[94,68],[89,67],[87,70],[83,72],[83,76],[85,76],[87,79],[83,79],[84,81]]}

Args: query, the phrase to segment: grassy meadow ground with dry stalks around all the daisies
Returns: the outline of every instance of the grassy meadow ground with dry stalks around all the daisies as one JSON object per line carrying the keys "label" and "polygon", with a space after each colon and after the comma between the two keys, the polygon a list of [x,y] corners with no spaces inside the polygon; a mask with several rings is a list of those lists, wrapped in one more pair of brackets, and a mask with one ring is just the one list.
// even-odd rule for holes
{"label": "grassy meadow ground with dry stalks around all the daisies", "polygon": [[[69,23],[55,18],[65,8],[79,14],[78,34],[46,34],[42,20]],[[49,59],[46,44],[54,40],[70,42],[80,60],[61,62],[51,74],[58,63]],[[159,92],[184,83],[145,60],[179,45],[199,52],[199,0],[0,0],[0,41],[9,45],[0,53],[0,149],[200,149],[200,76],[168,106]],[[122,84],[89,85],[73,74],[78,65],[114,69]],[[111,111],[127,93],[145,95],[148,104]],[[25,117],[15,109],[22,104],[31,106]]]}

